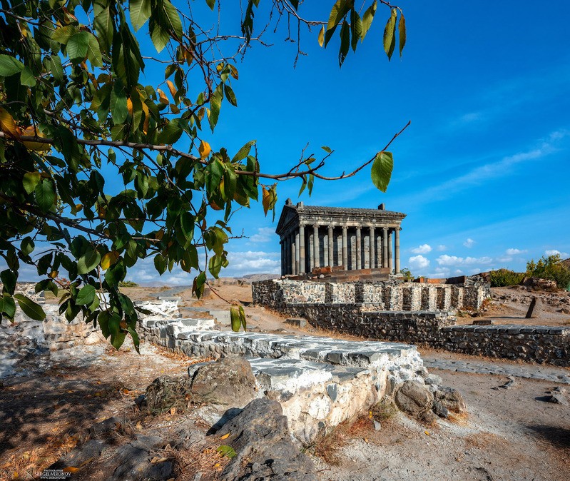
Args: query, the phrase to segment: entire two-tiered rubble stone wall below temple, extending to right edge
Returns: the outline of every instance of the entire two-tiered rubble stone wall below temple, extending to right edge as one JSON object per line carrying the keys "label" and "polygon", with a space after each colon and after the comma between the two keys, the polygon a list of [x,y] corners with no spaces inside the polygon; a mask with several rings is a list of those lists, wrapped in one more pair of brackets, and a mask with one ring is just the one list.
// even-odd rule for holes
{"label": "entire two-tiered rubble stone wall below temple, extending to right edge", "polygon": [[477,310],[489,286],[290,279],[252,284],[254,303],[320,328],[367,338],[427,344],[456,353],[570,366],[570,328],[455,325],[456,310]]}

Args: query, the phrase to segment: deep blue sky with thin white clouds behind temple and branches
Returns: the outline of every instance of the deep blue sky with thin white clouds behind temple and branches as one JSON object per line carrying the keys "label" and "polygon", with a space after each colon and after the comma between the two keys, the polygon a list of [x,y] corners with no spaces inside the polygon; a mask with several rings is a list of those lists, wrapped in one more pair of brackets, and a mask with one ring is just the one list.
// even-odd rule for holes
{"label": "deep blue sky with thin white clouds behind temple and branches", "polygon": [[[333,3],[305,2],[300,13],[327,20]],[[526,260],[545,253],[570,257],[570,2],[397,4],[407,23],[402,59],[385,56],[389,11],[379,6],[367,39],[342,69],[337,37],[321,49],[318,29],[302,34],[307,56],[296,68],[296,45],[284,41],[284,29],[268,31],[273,46],[254,46],[238,63],[238,108],[224,103],[215,134],[204,138],[230,153],[257,139],[263,171],[287,171],[307,143],[317,156],[320,146],[335,149],[323,173],[349,171],[412,124],[390,148],[395,169],[387,193],[372,186],[365,169],[346,181],[315,182],[310,198],[297,198],[299,181],[280,183],[275,222],[260,204],[238,211],[232,226],[248,238],[230,241],[230,266],[220,275],[279,272],[275,226],[288,197],[318,206],[384,202],[406,213],[402,267],[414,275],[524,270]],[[214,25],[203,0],[191,5],[196,19]],[[238,19],[238,8],[224,2],[222,26],[238,31]],[[153,75],[145,81],[163,81]],[[188,284],[195,275],[175,270],[159,278],[150,265],[133,268],[131,279]]]}

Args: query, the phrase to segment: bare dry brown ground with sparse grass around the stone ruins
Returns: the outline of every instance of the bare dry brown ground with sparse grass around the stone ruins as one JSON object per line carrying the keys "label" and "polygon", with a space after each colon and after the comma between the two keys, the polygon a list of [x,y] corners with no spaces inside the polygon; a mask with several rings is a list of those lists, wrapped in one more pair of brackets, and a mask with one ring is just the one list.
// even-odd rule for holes
{"label": "bare dry brown ground with sparse grass around the stone ruins", "polygon": [[[248,305],[249,285],[220,283],[219,295],[230,303]],[[125,288],[133,298],[149,299],[160,288]],[[163,290],[168,293],[168,290]],[[177,295],[183,305],[227,308],[215,294],[204,300],[191,298],[190,290]],[[501,296],[506,298],[502,299]],[[550,294],[548,294],[550,295]],[[539,318],[531,323],[564,325],[570,315],[565,309],[568,297],[544,302]],[[517,301],[515,298],[519,298]],[[497,290],[487,317],[497,323],[529,323],[524,319],[526,292]],[[561,305],[557,305],[561,303]],[[546,308],[544,308],[546,305]],[[260,307],[246,308],[248,325],[254,330],[287,331],[302,335],[336,335],[317,330],[297,330],[285,318]],[[503,319],[497,319],[503,318]],[[463,318],[467,320],[467,318]],[[347,337],[340,336],[338,337]],[[81,444],[95,422],[118,417],[114,442],[126,442],[133,433],[152,433],[185,425],[204,435],[208,425],[192,412],[143,416],[134,400],[160,375],[183,375],[188,363],[180,355],[143,345],[141,355],[128,347],[120,352],[98,345],[54,360],[51,367],[39,369],[30,362],[29,375],[4,380],[0,388],[0,480],[34,479],[63,453]],[[420,350],[437,358],[432,350]],[[464,360],[469,356],[445,353],[446,359]],[[484,360],[484,358],[474,358]],[[489,364],[494,360],[487,359]],[[539,366],[525,365],[533,369]],[[570,370],[564,370],[569,373]],[[432,370],[445,385],[458,389],[467,402],[468,414],[452,420],[439,420],[424,426],[402,413],[388,415],[375,430],[363,413],[355,422],[335,432],[307,452],[317,464],[322,480],[568,480],[570,479],[570,407],[546,402],[546,392],[556,384],[517,378],[513,388],[497,389],[506,378],[498,375]],[[219,479],[220,460],[206,450],[186,453],[157,452],[157,459],[176,460],[175,478],[193,479],[196,470],[205,479]],[[198,463],[198,464],[197,464]],[[104,465],[104,463],[103,463]],[[110,472],[101,460],[92,460],[72,472],[71,479],[106,479]],[[198,466],[199,465],[199,466]]]}

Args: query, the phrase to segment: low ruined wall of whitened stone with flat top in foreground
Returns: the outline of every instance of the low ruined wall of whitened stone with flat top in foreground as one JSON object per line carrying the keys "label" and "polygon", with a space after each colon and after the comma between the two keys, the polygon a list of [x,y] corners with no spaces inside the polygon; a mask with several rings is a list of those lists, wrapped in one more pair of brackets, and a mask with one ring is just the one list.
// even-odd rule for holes
{"label": "low ruined wall of whitened stone with flat top in foreground", "polygon": [[[296,440],[367,411],[405,380],[426,375],[412,345],[214,330],[213,319],[141,320],[143,338],[193,356],[242,355],[258,393],[278,400]],[[193,374],[197,368],[194,365]]]}

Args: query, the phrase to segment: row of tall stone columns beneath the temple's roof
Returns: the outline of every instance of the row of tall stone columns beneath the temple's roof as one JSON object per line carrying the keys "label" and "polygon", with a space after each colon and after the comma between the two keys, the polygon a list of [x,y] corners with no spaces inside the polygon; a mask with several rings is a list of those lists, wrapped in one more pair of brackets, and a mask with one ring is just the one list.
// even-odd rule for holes
{"label": "row of tall stone columns beneath the temple's roof", "polygon": [[[308,254],[309,260],[309,270],[314,267],[320,267],[320,238],[319,238],[319,228],[320,226],[312,226],[312,252],[305,253],[305,247],[310,243],[305,241],[305,226],[299,226],[294,232],[290,233],[288,236],[284,236],[281,240],[281,273],[285,274],[303,274],[305,273],[306,265],[306,255]],[[399,273],[400,263],[399,263],[399,231],[400,228],[380,228],[382,232],[382,257],[376,262],[376,235],[375,226],[365,227],[369,230],[369,256],[370,256],[370,268],[387,267]],[[392,233],[394,234],[392,242]],[[327,246],[323,245],[323,249],[327,248],[328,263],[332,267],[334,265],[335,259],[335,243],[334,243],[334,227],[328,226],[327,231]],[[392,243],[394,244],[394,250],[392,251]],[[362,269],[362,228],[356,228],[356,245],[353,246],[352,251],[348,251],[348,227],[342,226],[342,264],[345,266],[345,270],[348,269],[348,258],[349,254],[355,254],[356,265],[352,266],[352,269]],[[354,249],[355,248],[355,249]],[[355,250],[355,252],[354,252]],[[378,253],[380,257],[380,252]],[[340,260],[340,253],[338,255],[338,260]],[[393,263],[392,263],[393,260]],[[336,265],[339,265],[338,263]]]}

